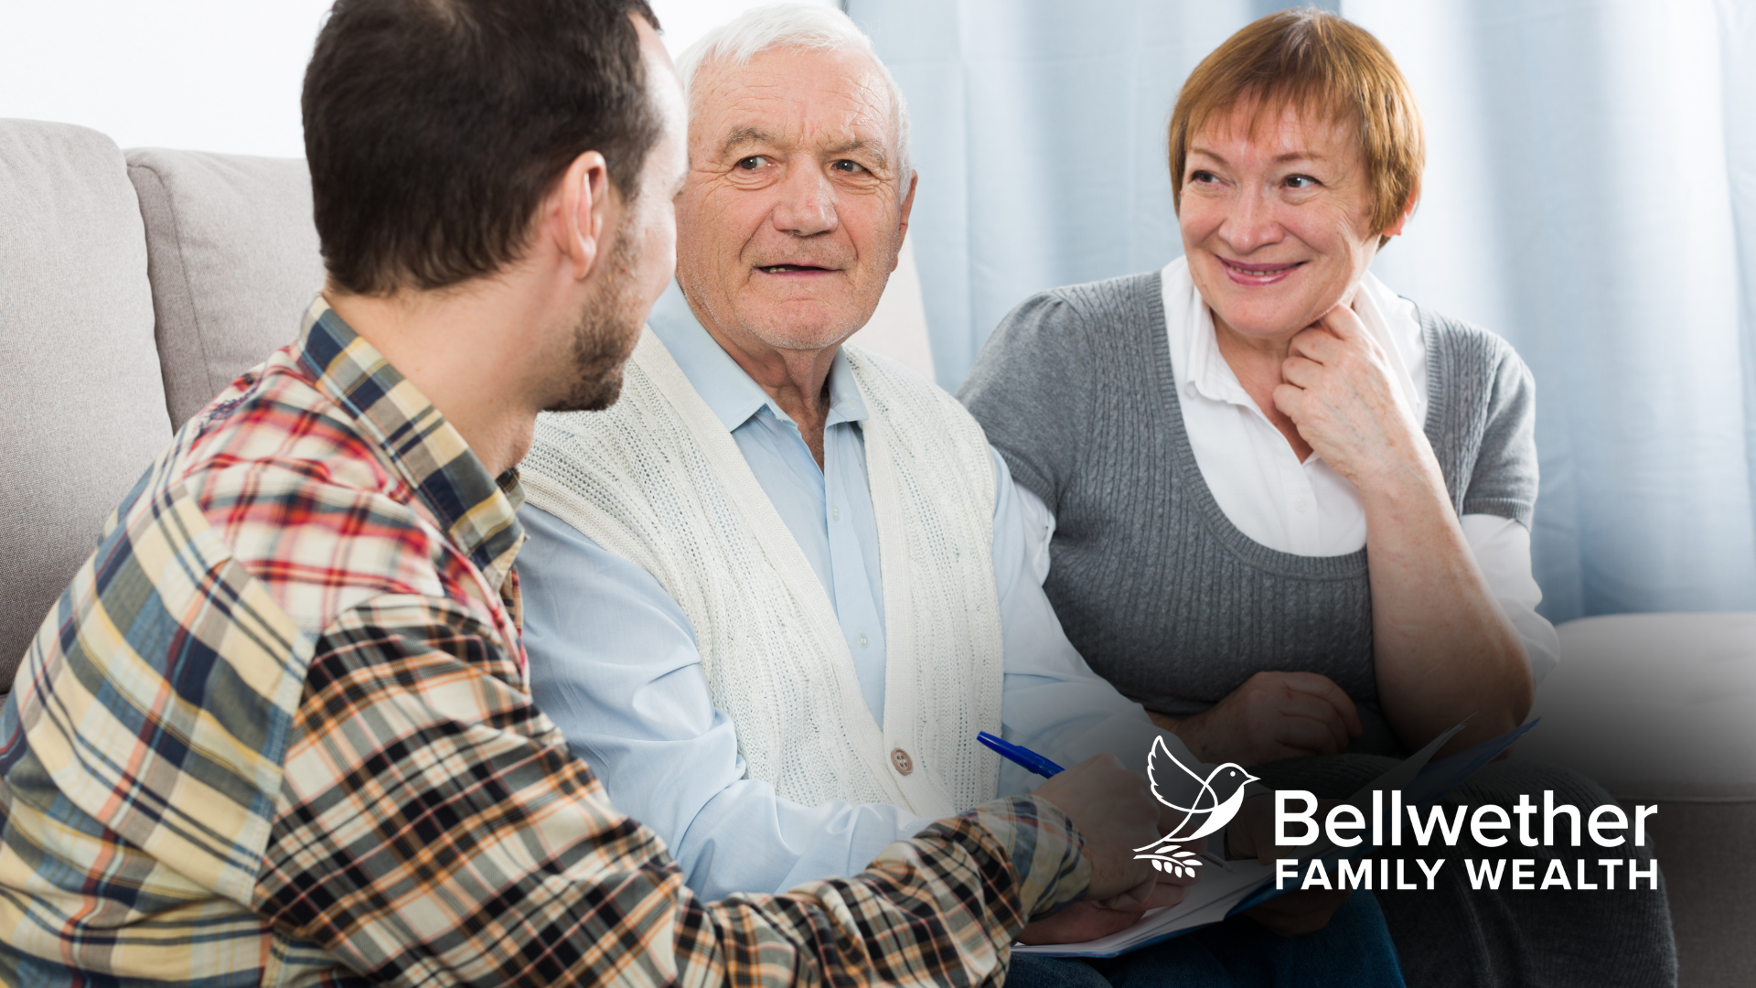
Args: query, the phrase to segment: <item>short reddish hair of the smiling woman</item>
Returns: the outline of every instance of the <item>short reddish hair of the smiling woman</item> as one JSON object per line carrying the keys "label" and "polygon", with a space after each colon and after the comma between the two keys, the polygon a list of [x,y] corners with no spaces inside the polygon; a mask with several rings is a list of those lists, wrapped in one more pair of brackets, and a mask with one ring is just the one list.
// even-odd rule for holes
{"label": "short reddish hair of the smiling woman", "polygon": [[[1171,197],[1182,207],[1189,139],[1238,105],[1354,127],[1371,185],[1371,229],[1389,229],[1421,188],[1421,107],[1391,53],[1370,32],[1317,9],[1270,14],[1196,65],[1171,111]],[[1252,121],[1254,127],[1254,121]]]}

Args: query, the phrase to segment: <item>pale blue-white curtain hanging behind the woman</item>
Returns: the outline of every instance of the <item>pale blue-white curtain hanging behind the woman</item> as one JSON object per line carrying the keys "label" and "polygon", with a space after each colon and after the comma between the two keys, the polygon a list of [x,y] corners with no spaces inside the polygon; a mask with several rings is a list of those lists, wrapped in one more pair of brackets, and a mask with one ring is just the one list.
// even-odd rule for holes
{"label": "pale blue-white curtain hanging behind the woman", "polygon": [[[848,0],[910,98],[939,383],[1026,295],[1180,253],[1184,76],[1282,4]],[[1342,0],[1426,118],[1375,271],[1536,376],[1536,577],[1565,621],[1756,610],[1756,4]]]}

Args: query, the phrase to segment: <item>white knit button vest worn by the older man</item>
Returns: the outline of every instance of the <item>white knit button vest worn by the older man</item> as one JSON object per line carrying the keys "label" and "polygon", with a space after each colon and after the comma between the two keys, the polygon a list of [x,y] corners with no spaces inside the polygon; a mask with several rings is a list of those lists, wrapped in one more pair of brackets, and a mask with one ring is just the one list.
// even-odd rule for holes
{"label": "white knit button vest worn by the older man", "polygon": [[537,420],[525,496],[644,568],[683,608],[746,777],[804,805],[948,816],[994,798],[999,768],[976,744],[976,731],[999,733],[994,464],[952,396],[894,360],[843,350],[867,406],[883,724],[811,563],[650,331],[613,408]]}

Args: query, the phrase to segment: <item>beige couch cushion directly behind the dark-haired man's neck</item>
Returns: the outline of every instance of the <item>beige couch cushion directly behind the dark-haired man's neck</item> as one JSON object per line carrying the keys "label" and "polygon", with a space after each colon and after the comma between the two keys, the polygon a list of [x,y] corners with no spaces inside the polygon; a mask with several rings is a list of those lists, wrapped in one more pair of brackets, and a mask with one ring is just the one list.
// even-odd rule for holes
{"label": "beige couch cushion directly behind the dark-haired man's neck", "polygon": [[158,353],[183,425],[299,332],[323,287],[311,176],[299,158],[128,151],[146,220]]}

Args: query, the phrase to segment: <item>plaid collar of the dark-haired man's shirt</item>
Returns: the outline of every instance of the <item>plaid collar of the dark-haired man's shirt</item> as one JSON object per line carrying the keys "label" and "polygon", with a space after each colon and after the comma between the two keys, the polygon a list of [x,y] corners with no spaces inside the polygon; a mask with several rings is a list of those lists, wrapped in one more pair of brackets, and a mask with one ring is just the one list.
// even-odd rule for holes
{"label": "plaid collar of the dark-haired man's shirt", "polygon": [[518,506],[525,503],[518,468],[490,476],[414,381],[342,322],[323,295],[306,309],[293,353],[313,383],[378,443],[385,464],[420,492],[451,541],[500,592],[525,540],[518,524]]}

